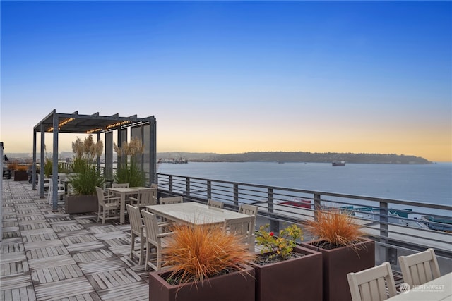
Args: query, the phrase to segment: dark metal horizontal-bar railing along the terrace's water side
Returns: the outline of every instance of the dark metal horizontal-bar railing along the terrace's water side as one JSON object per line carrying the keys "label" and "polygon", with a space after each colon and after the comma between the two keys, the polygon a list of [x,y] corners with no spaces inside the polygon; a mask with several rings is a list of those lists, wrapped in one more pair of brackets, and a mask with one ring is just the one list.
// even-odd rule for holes
{"label": "dark metal horizontal-bar railing along the terrace's water side", "polygon": [[[225,180],[194,178],[157,173],[159,191],[182,195],[195,202],[215,199],[228,209],[240,203],[258,206],[258,216],[269,221],[273,231],[284,223],[302,223],[314,219],[315,211],[350,211],[364,230],[381,246],[425,250],[452,258],[452,206],[398,199],[345,195],[334,192],[299,190]],[[306,240],[306,236],[305,236]]]}

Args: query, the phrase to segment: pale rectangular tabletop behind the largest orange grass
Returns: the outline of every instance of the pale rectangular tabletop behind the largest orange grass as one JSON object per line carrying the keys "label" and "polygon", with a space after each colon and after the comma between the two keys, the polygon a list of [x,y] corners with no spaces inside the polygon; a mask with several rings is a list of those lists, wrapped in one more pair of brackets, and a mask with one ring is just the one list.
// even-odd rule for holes
{"label": "pale rectangular tabletop behind the largest orange grass", "polygon": [[157,216],[189,226],[222,224],[225,219],[240,219],[248,216],[236,211],[210,207],[197,202],[149,205],[146,206],[146,209],[153,214],[157,214]]}

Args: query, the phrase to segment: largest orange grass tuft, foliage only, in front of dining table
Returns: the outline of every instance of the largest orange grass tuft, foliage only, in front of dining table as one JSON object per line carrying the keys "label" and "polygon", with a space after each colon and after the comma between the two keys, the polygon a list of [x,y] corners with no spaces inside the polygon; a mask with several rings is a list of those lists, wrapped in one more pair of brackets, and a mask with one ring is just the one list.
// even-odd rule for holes
{"label": "largest orange grass tuft, foliage only, in front of dining table", "polygon": [[163,265],[172,271],[171,284],[208,280],[209,277],[242,270],[242,264],[255,255],[248,251],[240,238],[225,233],[222,226],[177,225],[167,247],[162,252]]}

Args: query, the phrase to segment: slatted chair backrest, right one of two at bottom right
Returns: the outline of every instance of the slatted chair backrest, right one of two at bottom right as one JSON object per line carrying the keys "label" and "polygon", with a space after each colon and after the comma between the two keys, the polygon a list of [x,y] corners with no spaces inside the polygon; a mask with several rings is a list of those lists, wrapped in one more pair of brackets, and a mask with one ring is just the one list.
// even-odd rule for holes
{"label": "slatted chair backrest, right one of two at bottom right", "polygon": [[424,252],[398,257],[403,282],[421,285],[441,276],[435,251],[432,248]]}

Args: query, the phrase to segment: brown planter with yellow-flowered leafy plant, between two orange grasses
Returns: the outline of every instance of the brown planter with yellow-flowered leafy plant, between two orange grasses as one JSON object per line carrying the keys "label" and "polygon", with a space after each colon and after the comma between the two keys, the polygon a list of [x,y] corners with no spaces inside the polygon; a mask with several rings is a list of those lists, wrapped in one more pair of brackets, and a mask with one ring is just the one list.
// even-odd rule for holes
{"label": "brown planter with yellow-flowered leafy plant, between two orange grasses", "polygon": [[256,241],[261,255],[249,264],[256,271],[256,300],[322,300],[321,253],[297,246],[302,229],[297,225],[280,231],[278,237],[261,226]]}

